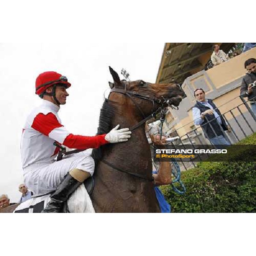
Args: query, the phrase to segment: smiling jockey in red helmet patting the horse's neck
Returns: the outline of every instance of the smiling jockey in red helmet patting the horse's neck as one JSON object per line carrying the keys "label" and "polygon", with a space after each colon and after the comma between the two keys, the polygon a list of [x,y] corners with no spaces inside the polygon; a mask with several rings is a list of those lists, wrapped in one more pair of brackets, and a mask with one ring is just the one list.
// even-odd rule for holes
{"label": "smiling jockey in red helmet patting the horse's neck", "polygon": [[42,105],[32,110],[26,119],[21,138],[21,160],[26,186],[36,195],[55,190],[44,212],[62,212],[64,202],[93,175],[94,160],[88,151],[55,161],[59,147],[85,150],[99,148],[107,143],[119,143],[130,138],[128,128],[119,125],[108,134],[93,137],[74,135],[61,125],[60,105],[66,104],[71,84],[65,76],[50,71],[41,73],[35,81],[35,93],[43,99]]}

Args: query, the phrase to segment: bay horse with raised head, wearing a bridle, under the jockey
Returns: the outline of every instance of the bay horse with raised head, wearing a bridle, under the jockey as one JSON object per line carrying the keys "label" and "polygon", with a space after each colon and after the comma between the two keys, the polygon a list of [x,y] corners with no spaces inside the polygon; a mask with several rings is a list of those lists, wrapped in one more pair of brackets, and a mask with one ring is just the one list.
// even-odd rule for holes
{"label": "bay horse with raised head, wearing a bridle, under the jockey", "polygon": [[[93,149],[95,186],[91,197],[96,212],[160,212],[152,180],[151,151],[145,122],[186,96],[178,84],[120,80],[109,67],[113,83],[103,103],[97,134],[116,125],[130,128],[131,138]],[[13,212],[16,205],[1,212]]]}

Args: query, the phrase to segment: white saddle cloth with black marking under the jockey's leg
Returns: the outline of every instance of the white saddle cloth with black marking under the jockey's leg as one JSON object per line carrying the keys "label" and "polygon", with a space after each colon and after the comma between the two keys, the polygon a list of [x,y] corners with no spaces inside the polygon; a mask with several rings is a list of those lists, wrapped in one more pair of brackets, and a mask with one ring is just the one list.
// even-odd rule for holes
{"label": "white saddle cloth with black marking under the jockey's leg", "polygon": [[[39,197],[31,198],[24,203],[20,204],[14,213],[40,213],[50,201],[50,195],[42,195]],[[78,212],[90,212],[94,213],[92,201],[84,184],[81,184],[76,191],[70,196],[67,201],[67,206],[65,212],[78,213]]]}

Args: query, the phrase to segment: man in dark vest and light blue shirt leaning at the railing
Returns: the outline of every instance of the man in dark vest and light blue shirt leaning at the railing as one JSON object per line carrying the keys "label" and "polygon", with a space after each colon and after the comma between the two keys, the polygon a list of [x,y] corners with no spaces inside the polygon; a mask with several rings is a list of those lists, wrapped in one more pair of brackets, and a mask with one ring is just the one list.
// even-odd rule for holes
{"label": "man in dark vest and light blue shirt leaning at the railing", "polygon": [[216,105],[211,99],[205,99],[205,92],[201,88],[194,91],[194,96],[197,99],[192,108],[195,125],[201,125],[205,136],[213,145],[230,145],[222,131],[230,132],[230,126],[227,125]]}

